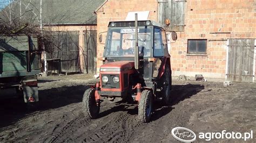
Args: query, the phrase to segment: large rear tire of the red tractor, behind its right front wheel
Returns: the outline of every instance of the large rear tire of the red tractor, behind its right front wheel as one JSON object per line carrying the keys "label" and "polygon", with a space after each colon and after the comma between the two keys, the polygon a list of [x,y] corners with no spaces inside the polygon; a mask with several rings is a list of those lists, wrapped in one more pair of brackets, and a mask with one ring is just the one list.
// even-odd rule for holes
{"label": "large rear tire of the red tractor, behind its right front wheel", "polygon": [[164,105],[170,104],[170,94],[171,94],[171,85],[172,85],[172,75],[169,66],[165,67],[165,72],[162,77],[163,90],[161,92],[163,98],[162,102]]}

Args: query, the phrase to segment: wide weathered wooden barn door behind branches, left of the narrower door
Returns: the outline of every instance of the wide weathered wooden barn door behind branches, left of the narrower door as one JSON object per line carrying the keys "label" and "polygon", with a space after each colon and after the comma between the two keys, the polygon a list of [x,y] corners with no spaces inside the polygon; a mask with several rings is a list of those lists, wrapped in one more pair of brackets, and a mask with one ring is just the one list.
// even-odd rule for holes
{"label": "wide weathered wooden barn door behind branches, left of the narrower door", "polygon": [[52,42],[47,45],[47,59],[60,59],[61,72],[79,72],[78,31],[55,32]]}

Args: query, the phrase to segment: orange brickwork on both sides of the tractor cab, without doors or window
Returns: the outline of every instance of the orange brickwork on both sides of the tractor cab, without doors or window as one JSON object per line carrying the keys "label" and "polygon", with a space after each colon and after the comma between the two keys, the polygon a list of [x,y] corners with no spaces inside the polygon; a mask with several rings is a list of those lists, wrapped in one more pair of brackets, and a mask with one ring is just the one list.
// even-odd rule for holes
{"label": "orange brickwork on both sides of the tractor cab, without doors or window", "polygon": [[[256,1],[253,0],[187,0],[185,30],[177,32],[178,40],[171,44],[173,75],[225,78],[227,39],[256,39]],[[97,11],[97,30],[107,31],[112,20],[125,20],[130,11],[150,11],[149,19],[157,20],[158,2],[108,1]],[[230,32],[230,34],[211,34]],[[103,33],[105,37],[106,33]],[[206,56],[187,54],[187,39],[207,39]],[[105,40],[105,39],[104,39]],[[98,43],[98,57],[103,44]],[[102,65],[98,61],[97,67]]]}

